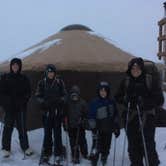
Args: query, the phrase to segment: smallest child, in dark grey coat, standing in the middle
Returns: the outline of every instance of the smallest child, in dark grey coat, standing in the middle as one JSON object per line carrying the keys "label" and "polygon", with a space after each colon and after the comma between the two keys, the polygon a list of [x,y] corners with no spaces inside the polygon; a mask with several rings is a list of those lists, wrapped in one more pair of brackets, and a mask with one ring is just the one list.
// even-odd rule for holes
{"label": "smallest child, in dark grey coat, standing in the middle", "polygon": [[79,150],[84,158],[87,158],[88,154],[87,141],[85,138],[88,106],[86,101],[81,98],[78,86],[71,88],[65,112],[72,161],[73,163],[79,163]]}

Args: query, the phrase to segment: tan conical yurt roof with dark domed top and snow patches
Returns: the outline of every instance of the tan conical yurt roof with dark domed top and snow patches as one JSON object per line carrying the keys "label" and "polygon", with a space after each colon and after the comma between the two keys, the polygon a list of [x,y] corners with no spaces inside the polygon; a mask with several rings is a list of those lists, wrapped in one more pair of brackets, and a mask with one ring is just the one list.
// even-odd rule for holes
{"label": "tan conical yurt roof with dark domed top and snow patches", "polygon": [[[15,57],[22,58],[23,70],[43,70],[51,63],[59,70],[102,72],[125,71],[133,55],[90,28],[76,24],[64,27]],[[8,66],[9,61],[6,61],[0,65],[0,70],[7,70]]]}

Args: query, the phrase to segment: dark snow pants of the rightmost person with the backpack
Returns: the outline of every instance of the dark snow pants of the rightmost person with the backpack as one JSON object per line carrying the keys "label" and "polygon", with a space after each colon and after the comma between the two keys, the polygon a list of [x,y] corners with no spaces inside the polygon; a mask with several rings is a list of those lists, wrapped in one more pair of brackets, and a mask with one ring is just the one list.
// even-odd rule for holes
{"label": "dark snow pants of the rightmost person with the backpack", "polygon": [[[155,117],[153,115],[148,115],[143,126],[143,133],[145,137],[149,165],[158,166],[160,162],[155,149]],[[143,157],[145,156],[145,153],[138,117],[135,117],[128,124],[127,137],[131,166],[143,166]]]}

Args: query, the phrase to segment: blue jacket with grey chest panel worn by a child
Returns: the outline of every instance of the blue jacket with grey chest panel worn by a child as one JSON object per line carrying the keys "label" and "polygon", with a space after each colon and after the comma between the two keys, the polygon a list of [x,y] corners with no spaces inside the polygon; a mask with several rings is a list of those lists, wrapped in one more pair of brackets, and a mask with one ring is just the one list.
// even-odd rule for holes
{"label": "blue jacket with grey chest panel worn by a child", "polygon": [[[113,99],[97,97],[90,103],[89,110],[88,119],[92,129],[96,128],[103,132],[110,132],[119,128],[118,112]],[[92,126],[91,122],[93,122]]]}

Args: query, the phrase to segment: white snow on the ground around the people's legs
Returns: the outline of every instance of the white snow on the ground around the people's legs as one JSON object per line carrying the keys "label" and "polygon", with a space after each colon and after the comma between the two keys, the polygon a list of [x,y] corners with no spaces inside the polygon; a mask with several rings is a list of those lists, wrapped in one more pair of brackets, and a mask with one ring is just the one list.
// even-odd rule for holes
{"label": "white snow on the ground around the people's legs", "polygon": [[[68,149],[68,160],[70,161],[70,150],[69,150],[69,142],[68,142],[68,136],[66,132],[63,131],[63,144]],[[3,159],[0,155],[0,163],[1,166],[18,166],[18,165],[24,165],[24,166],[38,166],[39,157],[40,157],[40,151],[42,146],[42,140],[43,140],[43,129],[37,129],[28,132],[29,135],[29,142],[31,148],[34,150],[34,155],[31,157],[27,157],[25,160],[23,160],[23,153],[19,147],[18,142],[18,134],[16,130],[14,130],[13,137],[12,137],[12,155],[9,159]],[[121,159],[122,159],[122,150],[123,150],[123,140],[124,140],[124,130],[121,130],[120,137],[116,140],[116,166],[121,165]],[[86,132],[86,137],[88,140],[88,147],[90,150],[91,147],[91,133],[89,131]],[[166,138],[166,132],[165,128],[157,128],[156,130],[156,146],[157,146],[157,152],[160,157],[161,164],[160,166],[166,165],[166,150],[165,147],[165,138]],[[114,143],[115,138],[112,139],[112,148],[110,150],[110,155],[108,158],[108,164],[111,165],[113,161],[113,151],[114,151]],[[126,152],[125,152],[125,163],[124,165],[129,165],[129,159],[127,154],[127,145],[126,145]],[[71,166],[72,164],[68,164],[68,166]],[[90,162],[88,160],[81,159],[80,166],[90,166]],[[66,165],[67,166],[67,165]]]}

